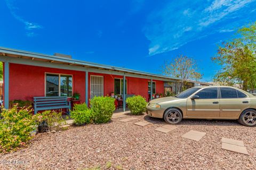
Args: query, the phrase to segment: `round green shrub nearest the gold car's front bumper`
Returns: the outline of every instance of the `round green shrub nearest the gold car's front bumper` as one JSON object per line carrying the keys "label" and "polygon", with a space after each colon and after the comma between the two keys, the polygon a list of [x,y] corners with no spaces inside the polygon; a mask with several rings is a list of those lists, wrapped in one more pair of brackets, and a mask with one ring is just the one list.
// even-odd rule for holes
{"label": "round green shrub nearest the gold car's front bumper", "polygon": [[147,101],[142,96],[133,96],[126,99],[128,108],[131,111],[131,114],[139,115],[145,112]]}

